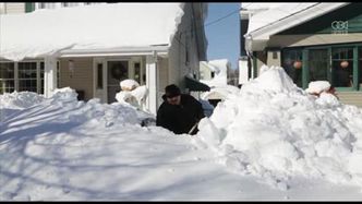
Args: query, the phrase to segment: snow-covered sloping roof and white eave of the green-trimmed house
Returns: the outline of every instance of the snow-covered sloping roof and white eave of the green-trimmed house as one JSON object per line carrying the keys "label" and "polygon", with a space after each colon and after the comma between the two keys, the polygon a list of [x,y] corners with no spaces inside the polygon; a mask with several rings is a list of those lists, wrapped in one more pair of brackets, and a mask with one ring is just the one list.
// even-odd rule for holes
{"label": "snow-covered sloping roof and white eave of the green-trimmed house", "polygon": [[[250,3],[251,4],[251,3]],[[338,3],[282,3],[251,15],[245,37],[246,50],[263,50],[269,36],[346,5]],[[252,7],[252,5],[250,5]],[[256,5],[253,5],[256,8]],[[267,7],[264,7],[267,8]],[[254,45],[252,45],[254,44]]]}

